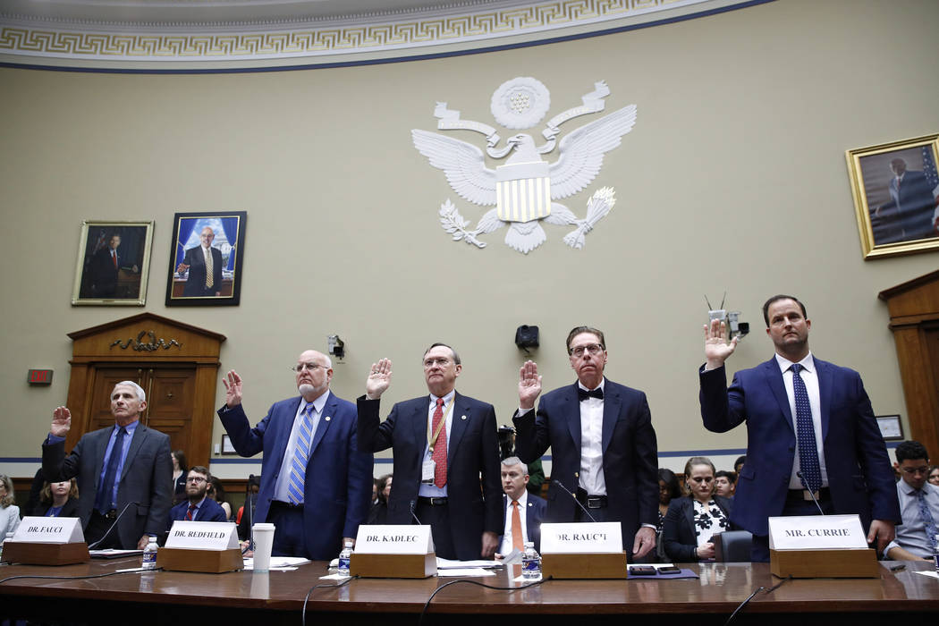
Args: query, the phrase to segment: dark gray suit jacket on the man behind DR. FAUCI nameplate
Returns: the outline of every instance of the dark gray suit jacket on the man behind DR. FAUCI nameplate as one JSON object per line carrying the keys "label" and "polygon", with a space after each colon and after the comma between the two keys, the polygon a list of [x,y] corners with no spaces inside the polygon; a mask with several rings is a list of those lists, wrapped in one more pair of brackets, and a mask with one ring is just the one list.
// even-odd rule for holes
{"label": "dark gray suit jacket on the man behind DR. FAUCI nameplate", "polygon": [[[50,482],[78,481],[78,516],[87,527],[95,507],[98,479],[104,452],[114,426],[85,433],[67,456],[65,442],[42,444],[42,473]],[[173,500],[173,461],[170,438],[159,431],[138,424],[127,451],[120,482],[117,485],[117,512],[131,504],[117,524],[121,547],[133,549],[145,534],[159,535],[166,529]]]}

